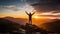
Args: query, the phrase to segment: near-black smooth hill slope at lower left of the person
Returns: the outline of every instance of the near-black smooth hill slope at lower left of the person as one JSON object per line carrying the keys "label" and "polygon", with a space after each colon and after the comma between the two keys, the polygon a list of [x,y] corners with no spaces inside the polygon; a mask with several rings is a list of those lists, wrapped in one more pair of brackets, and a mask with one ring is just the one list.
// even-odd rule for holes
{"label": "near-black smooth hill slope at lower left of the person", "polygon": [[12,32],[14,30],[19,30],[22,25],[9,21],[4,18],[0,18],[0,32]]}

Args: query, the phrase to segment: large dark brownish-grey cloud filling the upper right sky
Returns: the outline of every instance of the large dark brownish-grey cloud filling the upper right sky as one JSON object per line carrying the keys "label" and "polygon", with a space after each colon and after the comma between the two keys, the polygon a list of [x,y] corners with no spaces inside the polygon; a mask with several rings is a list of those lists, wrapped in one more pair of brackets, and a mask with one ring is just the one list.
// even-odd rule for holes
{"label": "large dark brownish-grey cloud filling the upper right sky", "polygon": [[[32,2],[32,3],[31,3]],[[60,12],[60,0],[31,0],[31,6],[33,6],[37,11],[48,12],[48,11],[58,11]]]}

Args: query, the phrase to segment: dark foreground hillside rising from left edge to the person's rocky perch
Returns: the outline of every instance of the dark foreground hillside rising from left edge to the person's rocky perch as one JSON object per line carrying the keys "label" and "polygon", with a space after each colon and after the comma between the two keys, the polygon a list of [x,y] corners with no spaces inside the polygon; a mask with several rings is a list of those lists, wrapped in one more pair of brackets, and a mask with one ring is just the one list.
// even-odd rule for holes
{"label": "dark foreground hillside rising from left edge to the person's rocky perch", "polygon": [[25,26],[23,26],[13,21],[7,20],[5,18],[0,18],[0,32],[18,31],[19,33],[21,33],[23,31],[22,29],[25,30],[27,34],[32,32],[33,33],[40,32],[42,34],[47,33],[47,31],[39,28],[36,25],[31,25],[27,23]]}

